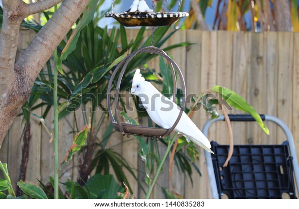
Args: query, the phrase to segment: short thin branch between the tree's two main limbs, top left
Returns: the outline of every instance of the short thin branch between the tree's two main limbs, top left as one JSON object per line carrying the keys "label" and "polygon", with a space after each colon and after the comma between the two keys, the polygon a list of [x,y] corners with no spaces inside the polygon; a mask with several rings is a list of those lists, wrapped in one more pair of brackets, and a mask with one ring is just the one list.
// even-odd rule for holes
{"label": "short thin branch between the tree's two main limbs, top left", "polygon": [[25,16],[29,16],[31,14],[39,13],[60,3],[62,0],[41,0],[34,3],[29,3],[26,6],[26,10],[24,12]]}

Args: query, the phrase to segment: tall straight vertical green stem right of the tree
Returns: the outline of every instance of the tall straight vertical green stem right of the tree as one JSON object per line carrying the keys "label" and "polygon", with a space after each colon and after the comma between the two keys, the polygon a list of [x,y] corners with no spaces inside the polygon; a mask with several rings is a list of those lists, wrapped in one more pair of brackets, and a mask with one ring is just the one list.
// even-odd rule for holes
{"label": "tall straight vertical green stem right of the tree", "polygon": [[[54,57],[57,57],[57,49],[54,51]],[[54,59],[56,62],[57,60]],[[58,101],[57,101],[57,79],[58,79],[58,68],[54,69],[54,91],[53,91],[53,101],[54,101],[54,199],[58,199]]]}

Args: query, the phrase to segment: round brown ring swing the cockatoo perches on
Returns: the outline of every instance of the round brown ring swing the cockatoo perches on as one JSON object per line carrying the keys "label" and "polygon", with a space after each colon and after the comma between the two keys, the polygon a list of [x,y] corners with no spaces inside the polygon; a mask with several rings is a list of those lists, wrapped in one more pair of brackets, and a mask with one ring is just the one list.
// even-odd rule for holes
{"label": "round brown ring swing the cockatoo perches on", "polygon": [[[173,78],[173,99],[172,101],[175,102],[176,99],[176,78],[175,78],[175,71],[174,68],[177,72],[177,75],[180,78],[181,81],[181,87],[182,87],[182,92],[183,92],[183,98],[182,98],[182,105],[180,107],[180,112],[179,115],[176,119],[176,121],[174,122],[174,124],[172,125],[172,127],[170,127],[169,129],[165,129],[165,128],[156,128],[156,127],[145,127],[145,126],[140,126],[140,125],[134,125],[134,124],[129,124],[129,123],[124,123],[121,122],[121,115],[120,115],[120,111],[119,111],[119,90],[120,90],[120,85],[121,85],[121,81],[122,78],[124,76],[124,73],[126,71],[126,68],[129,64],[129,62],[138,54],[140,53],[150,53],[150,54],[157,54],[159,56],[164,57],[171,69],[171,73],[172,73],[172,78]],[[123,67],[122,67],[123,66]],[[112,88],[112,84],[113,81],[115,79],[116,74],[118,73],[118,71],[120,70],[120,68],[122,67],[122,70],[119,74],[119,78],[117,81],[117,85],[116,85],[116,91],[115,91],[115,104],[114,104],[114,109],[115,109],[115,117],[113,116],[112,113],[112,105],[111,105],[111,88]],[[108,106],[108,113],[109,116],[112,120],[112,124],[114,129],[116,129],[117,131],[119,131],[120,133],[122,133],[123,135],[140,135],[140,136],[150,136],[150,137],[156,137],[156,138],[164,138],[166,137],[177,125],[183,111],[184,111],[184,107],[185,107],[185,102],[186,102],[186,87],[185,87],[185,82],[184,82],[184,78],[183,75],[179,69],[179,67],[177,66],[177,64],[161,49],[154,47],[154,46],[147,46],[147,47],[143,47],[141,49],[138,49],[137,51],[135,51],[134,53],[128,55],[122,62],[120,62],[118,64],[118,66],[116,67],[116,69],[114,70],[109,84],[108,84],[108,90],[107,90],[107,106]]]}

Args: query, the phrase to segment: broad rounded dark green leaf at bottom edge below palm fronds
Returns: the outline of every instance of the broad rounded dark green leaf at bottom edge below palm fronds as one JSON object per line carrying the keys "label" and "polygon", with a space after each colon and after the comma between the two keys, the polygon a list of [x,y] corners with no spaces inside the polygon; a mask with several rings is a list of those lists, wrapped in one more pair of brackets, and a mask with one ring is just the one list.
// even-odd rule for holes
{"label": "broad rounded dark green leaf at bottom edge below palm fronds", "polygon": [[125,192],[125,189],[116,183],[111,174],[105,176],[96,174],[87,181],[85,186],[90,194],[90,199],[100,196],[102,199],[118,199],[118,193]]}

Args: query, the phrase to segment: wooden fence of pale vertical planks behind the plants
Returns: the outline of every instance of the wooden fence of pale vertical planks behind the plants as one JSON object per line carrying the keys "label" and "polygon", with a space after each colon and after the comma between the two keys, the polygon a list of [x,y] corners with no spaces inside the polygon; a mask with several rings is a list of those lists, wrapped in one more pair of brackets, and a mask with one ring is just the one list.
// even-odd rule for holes
{"label": "wooden fence of pale vertical planks behind the plants", "polygon": [[[130,38],[135,37],[137,32],[137,30],[129,29],[127,34]],[[149,35],[150,31],[147,32]],[[32,35],[34,34],[22,31],[20,49],[25,48]],[[294,135],[299,156],[299,128],[297,127],[299,125],[299,33],[177,31],[164,46],[184,41],[194,44],[174,49],[171,54],[183,72],[187,94],[192,93],[198,96],[199,93],[214,85],[234,90],[260,113],[277,116],[289,126]],[[157,60],[151,61],[149,66],[157,69]],[[35,113],[41,114],[41,112],[42,109],[38,109]],[[229,113],[236,112],[238,111]],[[201,128],[207,116],[204,110],[200,109],[192,119]],[[72,121],[73,118],[68,116],[68,120]],[[50,114],[46,121],[53,130],[53,124],[51,124],[53,117]],[[37,183],[36,179],[47,182],[48,176],[53,176],[53,145],[49,143],[48,134],[43,127],[38,125],[38,122],[36,118],[31,118],[32,137],[26,174],[27,180],[35,183]],[[270,129],[270,136],[263,133],[257,123],[233,123],[235,144],[280,144],[286,139],[280,128],[268,122],[266,124]],[[82,122],[82,127],[83,125]],[[59,127],[59,157],[62,159],[72,143],[72,135],[69,134],[70,128],[65,120],[59,122]],[[8,163],[9,174],[13,182],[17,181],[19,174],[22,129],[22,118],[17,117],[0,150],[0,160]],[[220,144],[228,143],[225,125],[222,123],[212,125],[208,138]],[[127,140],[127,137],[123,138],[116,133],[111,137],[109,146],[124,140]],[[115,149],[134,168],[142,167],[136,140],[121,143]],[[169,162],[166,161],[164,170],[157,180],[159,186],[154,188],[151,198],[164,197],[160,187],[166,187],[186,199],[211,198],[203,149],[198,150],[200,156],[196,165],[202,176],[193,172],[193,186],[189,178],[179,173],[176,168],[172,169],[172,176],[168,179]],[[77,165],[78,159],[75,158],[61,171],[61,181],[67,178],[75,180],[78,177]],[[133,185],[135,196],[144,198],[145,195],[138,188],[134,178],[128,175],[128,179]]]}

